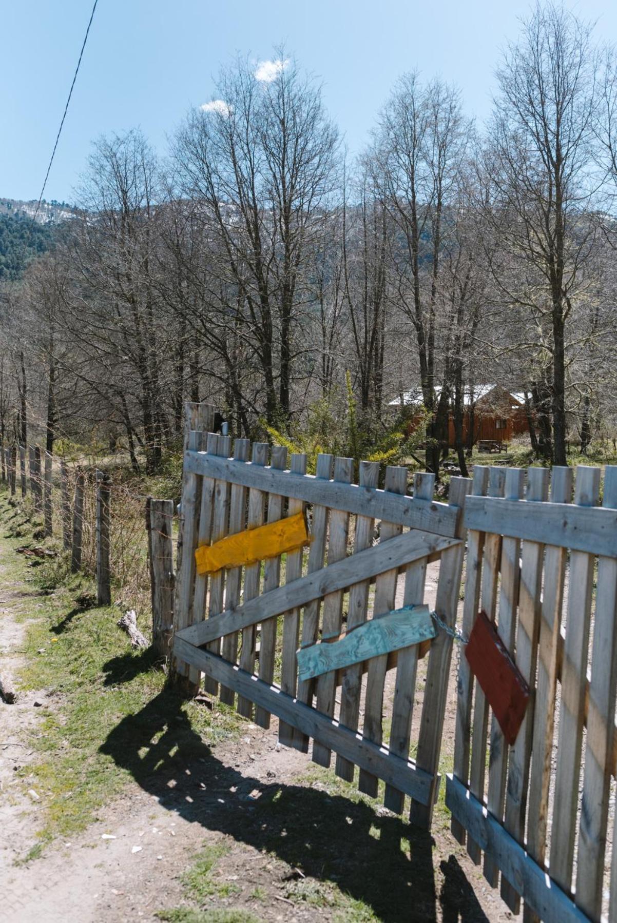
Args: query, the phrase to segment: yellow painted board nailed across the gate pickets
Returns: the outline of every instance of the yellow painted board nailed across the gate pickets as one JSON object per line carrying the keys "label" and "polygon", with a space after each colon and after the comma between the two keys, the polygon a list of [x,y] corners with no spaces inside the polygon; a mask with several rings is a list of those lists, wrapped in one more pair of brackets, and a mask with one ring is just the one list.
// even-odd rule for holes
{"label": "yellow painted board nailed across the gate pickets", "polygon": [[299,512],[257,529],[227,535],[214,545],[200,545],[195,552],[195,563],[199,574],[214,573],[297,551],[308,543],[307,521],[304,513]]}

